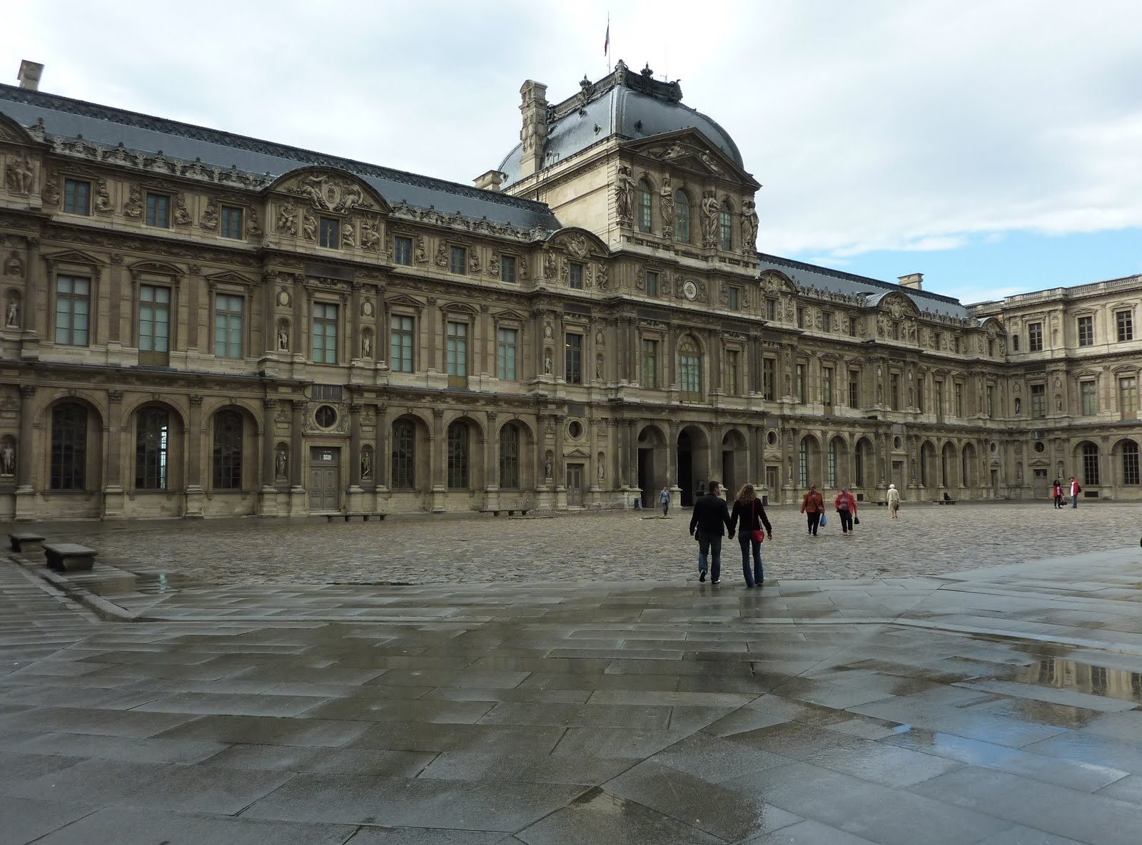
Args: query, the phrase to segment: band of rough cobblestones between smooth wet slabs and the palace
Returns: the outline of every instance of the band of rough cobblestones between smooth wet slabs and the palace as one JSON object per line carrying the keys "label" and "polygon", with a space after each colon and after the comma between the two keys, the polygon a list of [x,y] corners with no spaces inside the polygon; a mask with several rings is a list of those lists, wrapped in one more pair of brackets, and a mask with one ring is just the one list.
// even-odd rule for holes
{"label": "band of rough cobblestones between smooth wet slabs and the palace", "polygon": [[[605,512],[548,518],[391,517],[384,522],[208,520],[47,522],[56,539],[99,550],[131,571],[158,570],[230,583],[584,582],[693,579],[690,511]],[[906,504],[860,511],[855,536],[830,520],[815,538],[793,507],[769,511],[774,539],[762,546],[769,579],[910,577],[1136,546],[1142,507],[1084,504]],[[737,541],[723,569],[740,575]]]}

